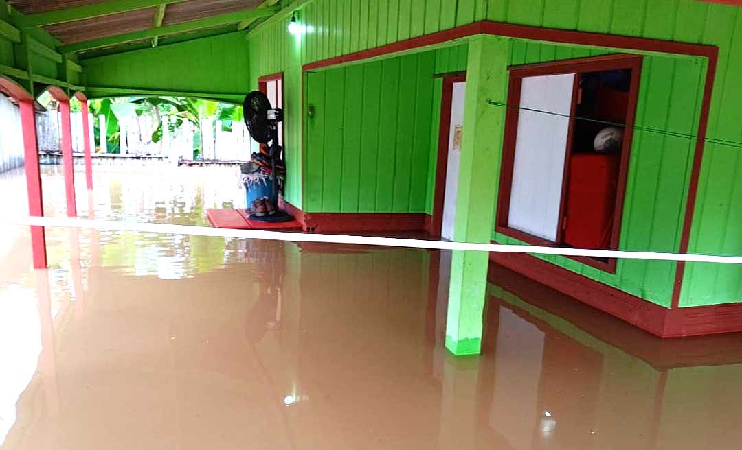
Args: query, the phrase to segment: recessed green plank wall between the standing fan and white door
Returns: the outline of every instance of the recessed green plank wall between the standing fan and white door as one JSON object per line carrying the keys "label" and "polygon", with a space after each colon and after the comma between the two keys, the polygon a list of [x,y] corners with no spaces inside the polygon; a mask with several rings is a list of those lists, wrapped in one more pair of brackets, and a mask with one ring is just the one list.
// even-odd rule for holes
{"label": "recessed green plank wall between the standing fan and white door", "polygon": [[305,210],[425,211],[436,53],[307,74]]}

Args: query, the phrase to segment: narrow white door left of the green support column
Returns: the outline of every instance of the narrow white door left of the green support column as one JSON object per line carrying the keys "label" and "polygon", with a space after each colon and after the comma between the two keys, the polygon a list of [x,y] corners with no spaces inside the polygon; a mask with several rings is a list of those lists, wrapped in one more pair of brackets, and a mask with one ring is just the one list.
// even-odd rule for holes
{"label": "narrow white door left of the green support column", "polygon": [[466,82],[453,83],[451,95],[451,123],[448,129],[448,161],[446,166],[446,188],[443,198],[443,223],[441,237],[453,240],[456,225],[456,195],[459,193],[459,160],[462,154],[464,135],[464,98]]}

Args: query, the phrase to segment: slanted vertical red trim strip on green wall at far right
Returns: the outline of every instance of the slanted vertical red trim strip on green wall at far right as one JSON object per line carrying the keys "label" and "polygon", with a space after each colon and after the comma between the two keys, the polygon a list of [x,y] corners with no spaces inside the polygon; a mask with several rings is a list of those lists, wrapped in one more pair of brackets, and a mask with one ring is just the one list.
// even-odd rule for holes
{"label": "slanted vertical red trim strip on green wall at far right", "polygon": [[[686,214],[683,217],[683,231],[680,233],[680,248],[678,248],[678,253],[688,252],[693,225],[693,212],[695,211],[696,196],[698,193],[698,178],[700,177],[700,166],[703,162],[703,150],[705,149],[706,130],[709,127],[709,110],[711,109],[711,97],[714,90],[716,64],[719,57],[719,49],[717,47],[712,48],[713,53],[709,56],[709,65],[706,68],[706,84],[703,85],[703,101],[701,102],[700,118],[698,119],[698,136],[695,153],[693,153],[693,166],[691,169],[690,184],[688,186],[688,199],[686,200]],[[677,262],[675,267],[675,282],[672,289],[672,308],[678,308],[680,306],[680,293],[683,288],[685,270],[686,262]]]}

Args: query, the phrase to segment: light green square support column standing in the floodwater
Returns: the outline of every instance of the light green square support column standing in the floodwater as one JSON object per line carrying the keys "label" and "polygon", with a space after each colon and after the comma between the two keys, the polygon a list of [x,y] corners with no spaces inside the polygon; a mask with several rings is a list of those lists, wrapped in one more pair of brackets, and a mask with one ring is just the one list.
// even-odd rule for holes
{"label": "light green square support column standing in the floodwater", "polygon": [[[467,62],[464,136],[456,199],[456,242],[490,242],[502,156],[508,95],[510,40],[474,36]],[[446,348],[456,355],[479,354],[485,307],[488,255],[454,251],[446,321]]]}

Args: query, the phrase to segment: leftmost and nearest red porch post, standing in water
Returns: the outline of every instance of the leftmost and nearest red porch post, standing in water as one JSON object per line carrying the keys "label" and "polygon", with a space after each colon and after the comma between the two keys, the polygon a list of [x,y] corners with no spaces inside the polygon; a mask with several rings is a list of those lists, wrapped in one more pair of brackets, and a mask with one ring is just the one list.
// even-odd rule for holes
{"label": "leftmost and nearest red porch post, standing in water", "polygon": [[[28,190],[28,214],[44,216],[42,202],[42,176],[39,170],[39,146],[36,143],[36,113],[33,100],[19,102],[21,128],[23,131],[24,166]],[[46,241],[44,227],[31,227],[31,248],[33,250],[33,267],[46,268]]]}

